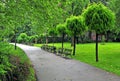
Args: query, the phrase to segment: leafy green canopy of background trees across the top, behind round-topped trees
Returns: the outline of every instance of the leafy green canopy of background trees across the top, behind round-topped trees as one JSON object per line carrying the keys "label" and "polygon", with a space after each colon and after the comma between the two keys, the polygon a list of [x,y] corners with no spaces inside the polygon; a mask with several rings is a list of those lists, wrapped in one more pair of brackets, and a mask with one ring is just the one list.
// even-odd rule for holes
{"label": "leafy green canopy of background trees across the top, behind round-topped trees", "polygon": [[119,0],[4,0],[0,1],[0,24],[4,30],[15,31],[15,27],[16,29],[23,28],[26,23],[30,23],[32,31],[40,35],[45,33],[46,28],[52,28],[53,25],[63,23],[71,15],[80,15],[90,2],[99,1],[116,13],[116,21],[118,21]]}

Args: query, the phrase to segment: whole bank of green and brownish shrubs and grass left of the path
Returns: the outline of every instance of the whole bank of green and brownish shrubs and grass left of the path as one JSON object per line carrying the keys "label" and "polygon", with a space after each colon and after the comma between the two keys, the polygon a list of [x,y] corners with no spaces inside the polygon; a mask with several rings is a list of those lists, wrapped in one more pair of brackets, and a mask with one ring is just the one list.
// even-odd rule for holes
{"label": "whole bank of green and brownish shrubs and grass left of the path", "polygon": [[0,43],[0,81],[36,81],[27,55],[8,43]]}

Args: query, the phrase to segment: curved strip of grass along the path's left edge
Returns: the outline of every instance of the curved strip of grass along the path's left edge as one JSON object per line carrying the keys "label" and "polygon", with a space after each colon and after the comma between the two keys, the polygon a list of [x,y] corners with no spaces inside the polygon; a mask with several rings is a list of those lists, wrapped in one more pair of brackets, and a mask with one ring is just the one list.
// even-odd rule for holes
{"label": "curved strip of grass along the path's left edge", "polygon": [[27,76],[23,77],[26,78],[26,81],[36,81],[35,71],[33,69],[32,63],[30,62],[25,52],[21,50],[19,47],[17,47],[17,50],[14,50],[14,46],[12,46],[11,54],[15,57],[18,57],[20,59],[20,64],[24,65],[22,68],[23,70],[26,70],[26,73],[25,72],[23,73],[25,73]]}

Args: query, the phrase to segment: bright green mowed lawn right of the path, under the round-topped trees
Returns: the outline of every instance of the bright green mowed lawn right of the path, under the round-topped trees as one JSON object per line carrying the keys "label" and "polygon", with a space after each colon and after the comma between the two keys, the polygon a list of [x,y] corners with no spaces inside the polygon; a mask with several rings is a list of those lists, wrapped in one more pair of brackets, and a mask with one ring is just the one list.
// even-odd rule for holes
{"label": "bright green mowed lawn right of the path, under the round-topped trees", "polygon": [[[49,44],[52,45],[52,44]],[[37,44],[37,46],[41,46]],[[61,43],[54,46],[61,47]],[[72,48],[70,43],[65,43],[64,48]],[[120,43],[99,43],[99,62],[95,62],[95,43],[77,44],[76,55],[73,59],[88,63],[95,67],[120,75]]]}

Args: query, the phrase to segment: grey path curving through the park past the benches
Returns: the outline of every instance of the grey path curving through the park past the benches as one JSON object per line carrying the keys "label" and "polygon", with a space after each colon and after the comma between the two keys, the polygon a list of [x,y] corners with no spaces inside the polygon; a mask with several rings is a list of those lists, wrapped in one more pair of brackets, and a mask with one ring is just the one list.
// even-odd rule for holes
{"label": "grey path curving through the park past the benches", "polygon": [[64,59],[37,47],[18,44],[36,70],[38,81],[120,81],[120,77],[79,61]]}

